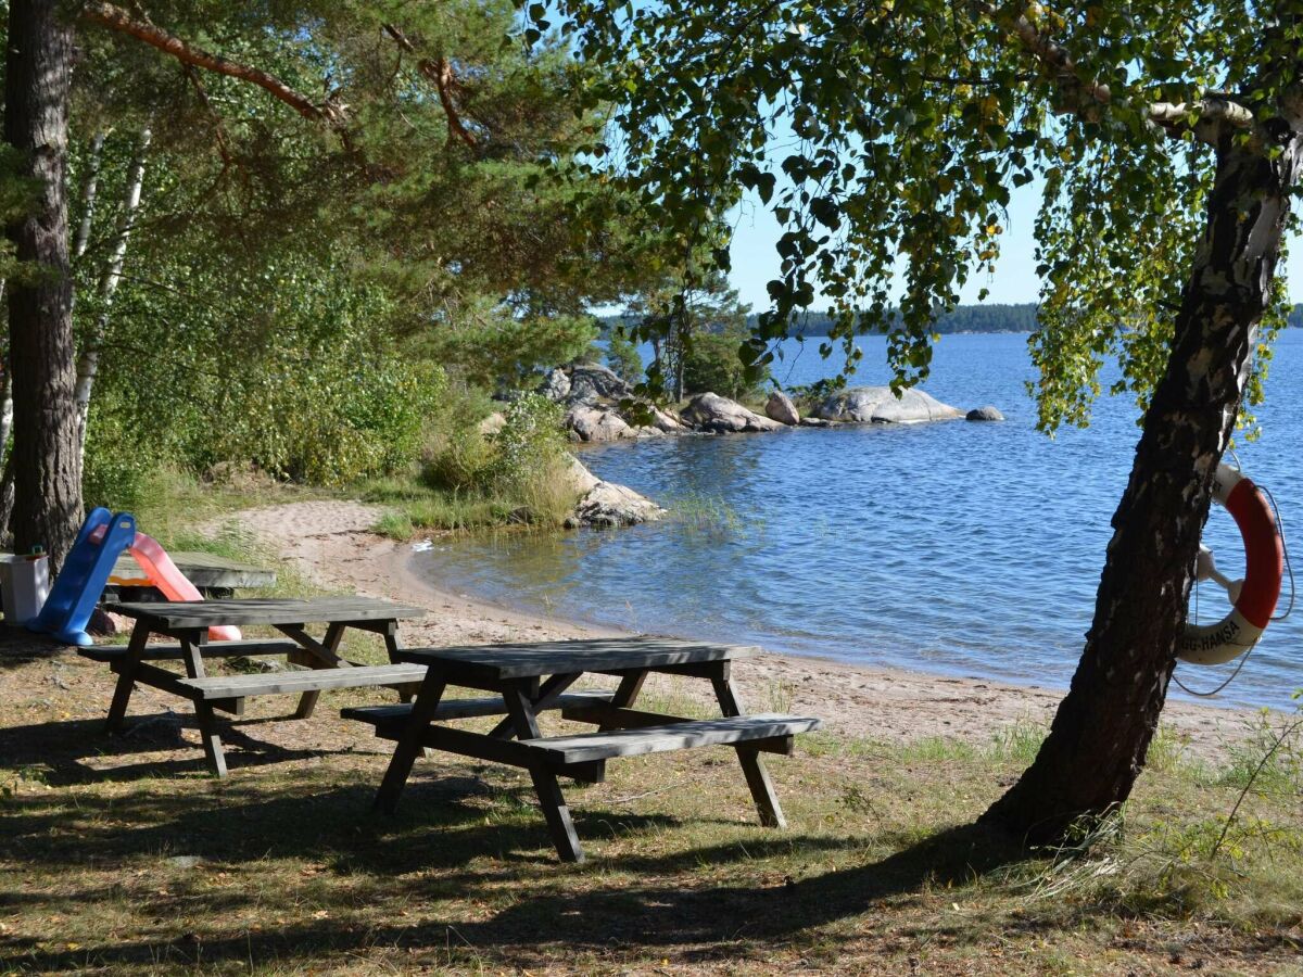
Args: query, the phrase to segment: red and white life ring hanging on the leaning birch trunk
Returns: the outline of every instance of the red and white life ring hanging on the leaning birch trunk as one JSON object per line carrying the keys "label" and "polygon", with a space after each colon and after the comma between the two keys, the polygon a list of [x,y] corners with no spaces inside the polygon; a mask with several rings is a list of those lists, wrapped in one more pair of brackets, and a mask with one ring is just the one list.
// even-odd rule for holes
{"label": "red and white life ring hanging on the leaning birch trunk", "polygon": [[1244,580],[1217,572],[1212,552],[1203,550],[1199,580],[1216,580],[1230,594],[1231,612],[1216,624],[1187,624],[1177,658],[1194,664],[1224,664],[1244,654],[1261,637],[1276,612],[1285,574],[1285,545],[1267,495],[1243,473],[1218,465],[1213,500],[1226,507],[1244,539]]}

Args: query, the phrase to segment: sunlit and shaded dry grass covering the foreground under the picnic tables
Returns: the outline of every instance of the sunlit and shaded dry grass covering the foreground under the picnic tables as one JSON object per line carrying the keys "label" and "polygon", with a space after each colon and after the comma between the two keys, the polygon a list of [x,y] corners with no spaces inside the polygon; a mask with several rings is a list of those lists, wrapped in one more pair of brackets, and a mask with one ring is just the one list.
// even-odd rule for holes
{"label": "sunlit and shaded dry grass covering the foreground under the picnic tables", "polygon": [[[1303,939],[1298,780],[1251,791],[1217,845],[1238,791],[1174,762],[1089,851],[1027,855],[967,825],[1029,724],[989,746],[822,733],[769,762],[787,831],[753,823],[727,750],[567,786],[590,858],[568,866],[508,767],[422,759],[400,813],[374,814],[388,748],[335,709],[378,694],[328,693],[298,723],[255,703],[215,782],[184,718],[142,705],[138,732],[94,733],[98,668],[63,662],[70,690],[34,715],[21,690],[53,663],[0,660],[18,689],[0,705],[0,970],[1250,973]],[[701,711],[676,687],[641,705]]]}

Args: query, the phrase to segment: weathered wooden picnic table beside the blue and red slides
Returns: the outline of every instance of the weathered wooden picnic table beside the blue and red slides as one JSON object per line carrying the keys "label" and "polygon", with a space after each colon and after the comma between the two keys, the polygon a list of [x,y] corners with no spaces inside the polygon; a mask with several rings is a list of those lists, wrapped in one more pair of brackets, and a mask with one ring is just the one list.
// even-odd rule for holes
{"label": "weathered wooden picnic table beside the blue and red slides", "polygon": [[[245,598],[224,601],[119,602],[107,610],[136,620],[126,647],[94,645],[78,654],[108,663],[117,675],[117,687],[108,709],[108,731],[122,728],[132,690],[150,685],[194,703],[194,715],[203,741],[208,769],[227,775],[222,737],[214,710],[241,715],[245,700],[253,696],[297,694],[297,719],[313,714],[323,689],[392,687],[408,696],[423,677],[425,668],[397,662],[397,623],[423,617],[420,607],[365,597],[323,597],[306,601],[287,598]],[[278,640],[208,641],[208,628],[220,625],[267,625],[284,634]],[[318,640],[308,625],[324,625]],[[391,664],[364,666],[339,655],[348,628],[371,632],[384,638]],[[150,644],[162,636],[176,644]],[[285,655],[292,671],[253,675],[208,675],[205,659],[258,658]],[[185,675],[162,668],[155,662],[181,662]]]}

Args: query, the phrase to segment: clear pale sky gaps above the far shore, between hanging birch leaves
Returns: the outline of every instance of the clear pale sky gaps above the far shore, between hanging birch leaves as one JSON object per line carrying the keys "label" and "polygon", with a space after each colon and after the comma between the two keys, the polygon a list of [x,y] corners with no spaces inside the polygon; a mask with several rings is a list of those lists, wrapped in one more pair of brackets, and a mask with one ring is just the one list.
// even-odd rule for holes
{"label": "clear pale sky gaps above the far shore, between hanging birch leaves", "polygon": [[[990,294],[985,304],[1019,304],[1037,301],[1040,281],[1036,276],[1036,259],[1032,257],[1035,242],[1032,228],[1036,208],[1040,205],[1040,181],[1028,184],[1012,191],[1009,205],[1009,227],[1001,234],[1002,254],[995,263],[995,274],[975,275],[960,290],[962,304],[976,304],[982,287]],[[778,275],[778,254],[774,242],[782,231],[774,216],[754,199],[744,201],[735,215],[732,242],[732,272],[730,280],[737,289],[743,302],[749,302],[753,311],[769,307],[769,294],[765,284]],[[1291,242],[1293,254],[1285,267],[1290,300],[1303,302],[1303,242]],[[814,307],[827,306],[816,301]]]}

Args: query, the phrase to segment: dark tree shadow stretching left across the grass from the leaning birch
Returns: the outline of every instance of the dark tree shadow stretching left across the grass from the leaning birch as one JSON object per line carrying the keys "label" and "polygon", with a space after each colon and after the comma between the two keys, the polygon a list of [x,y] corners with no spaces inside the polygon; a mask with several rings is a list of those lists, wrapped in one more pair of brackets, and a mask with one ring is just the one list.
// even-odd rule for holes
{"label": "dark tree shadow stretching left across the grass from the leaning birch", "polygon": [[[5,805],[8,830],[0,839],[0,857],[20,870],[23,862],[76,865],[87,858],[158,862],[160,852],[177,852],[210,862],[210,869],[241,873],[248,885],[188,891],[184,907],[194,933],[145,935],[158,929],[141,925],[136,927],[139,935],[98,943],[82,939],[76,950],[12,938],[10,960],[40,970],[162,961],[210,967],[276,961],[283,967],[324,965],[332,954],[396,948],[443,952],[448,964],[486,955],[499,965],[537,967],[541,957],[555,960],[559,948],[567,954],[638,948],[671,954],[684,947],[705,960],[736,956],[740,943],[788,942],[882,900],[928,886],[967,883],[1025,857],[1007,839],[966,826],[919,843],[902,839],[900,851],[872,864],[786,883],[719,883],[702,874],[704,866],[724,866],[722,874],[736,879],[739,873],[727,869],[736,864],[741,874],[758,878],[765,874],[765,860],[794,852],[808,855],[810,865],[825,865],[834,849],[855,849],[864,840],[756,828],[744,843],[734,839],[564,866],[555,861],[542,817],[529,804],[528,784],[503,787],[466,776],[464,770],[456,778],[414,783],[404,796],[404,809],[392,818],[371,812],[374,771],[332,771],[358,782],[330,787],[291,774],[275,792],[266,783],[225,782],[206,793],[177,796],[160,786],[134,795],[129,813],[121,799],[91,796],[79,801],[65,835],[60,823],[70,818],[64,805],[52,799],[12,800]],[[495,805],[490,817],[480,802],[486,797]],[[623,838],[680,826],[678,818],[666,815],[589,809],[581,832],[598,823]],[[877,844],[883,840],[890,843],[874,839]],[[310,905],[321,907],[322,918],[300,908],[304,903],[297,895],[289,912],[272,908],[287,886],[294,892],[287,879],[268,879],[259,891],[257,873],[278,870],[275,860],[287,857],[322,864],[332,873],[337,885],[314,890],[311,896]],[[745,871],[748,865],[761,866],[760,871]],[[271,895],[278,886],[281,895]],[[519,898],[487,918],[468,918],[468,903],[500,905],[504,890]],[[102,898],[102,879],[94,885],[87,879],[81,890],[72,882],[47,896],[40,912]],[[36,901],[8,892],[0,896],[0,907],[17,911],[16,899]],[[387,909],[348,922],[360,904]],[[261,918],[279,913],[285,918],[262,929],[241,925],[238,920],[251,911],[262,912]],[[829,939],[835,943],[838,937]]]}

